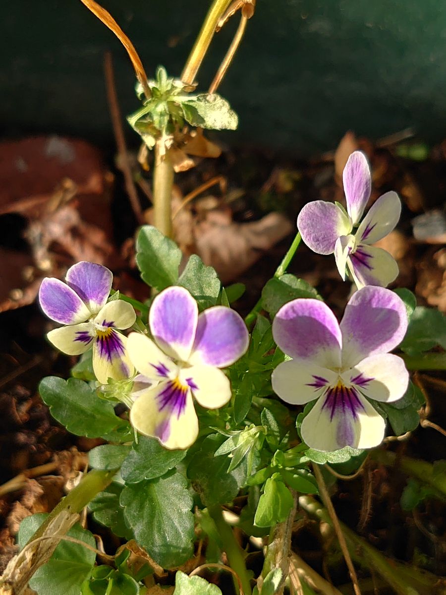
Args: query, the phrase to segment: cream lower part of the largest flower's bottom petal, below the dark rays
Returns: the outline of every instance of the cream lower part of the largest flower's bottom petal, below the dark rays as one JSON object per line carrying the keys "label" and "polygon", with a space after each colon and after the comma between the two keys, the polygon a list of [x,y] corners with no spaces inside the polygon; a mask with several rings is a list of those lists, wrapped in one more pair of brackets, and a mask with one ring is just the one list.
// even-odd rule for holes
{"label": "cream lower part of the largest flower's bottom petal, below the dark rays", "polygon": [[304,418],[300,431],[311,448],[333,452],[351,446],[372,448],[384,438],[385,421],[360,394],[354,408],[338,403],[331,408],[320,397]]}

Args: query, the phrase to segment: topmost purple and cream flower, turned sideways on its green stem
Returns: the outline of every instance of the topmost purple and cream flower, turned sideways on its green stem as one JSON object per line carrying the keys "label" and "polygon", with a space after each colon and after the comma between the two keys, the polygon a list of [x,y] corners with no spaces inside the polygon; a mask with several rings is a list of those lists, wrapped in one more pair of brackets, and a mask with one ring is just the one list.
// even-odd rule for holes
{"label": "topmost purple and cream flower, turned sideways on its green stem", "polygon": [[359,223],[372,188],[369,164],[360,151],[348,158],[343,183],[347,212],[338,203],[309,202],[297,217],[297,228],[313,252],[334,252],[343,280],[348,267],[358,289],[366,285],[386,287],[397,277],[398,265],[387,250],[371,244],[387,236],[398,223],[400,199],[396,192],[386,192]]}

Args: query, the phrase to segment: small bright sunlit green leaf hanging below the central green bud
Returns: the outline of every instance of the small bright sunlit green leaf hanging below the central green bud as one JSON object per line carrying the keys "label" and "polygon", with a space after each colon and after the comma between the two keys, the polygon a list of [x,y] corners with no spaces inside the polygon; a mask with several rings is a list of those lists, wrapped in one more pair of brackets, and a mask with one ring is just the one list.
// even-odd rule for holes
{"label": "small bright sunlit green leaf hanging below the central green bud", "polygon": [[285,521],[291,508],[293,508],[293,496],[280,474],[275,473],[265,482],[265,491],[260,496],[254,522],[257,527],[271,527]]}

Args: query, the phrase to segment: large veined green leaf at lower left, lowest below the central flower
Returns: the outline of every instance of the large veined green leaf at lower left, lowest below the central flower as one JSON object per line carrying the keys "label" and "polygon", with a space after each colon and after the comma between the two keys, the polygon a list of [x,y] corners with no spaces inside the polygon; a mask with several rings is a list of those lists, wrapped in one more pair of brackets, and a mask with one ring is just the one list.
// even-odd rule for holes
{"label": "large veined green leaf at lower left, lowest below the central flower", "polygon": [[193,500],[180,473],[125,486],[124,518],[140,546],[164,568],[186,562],[192,553]]}

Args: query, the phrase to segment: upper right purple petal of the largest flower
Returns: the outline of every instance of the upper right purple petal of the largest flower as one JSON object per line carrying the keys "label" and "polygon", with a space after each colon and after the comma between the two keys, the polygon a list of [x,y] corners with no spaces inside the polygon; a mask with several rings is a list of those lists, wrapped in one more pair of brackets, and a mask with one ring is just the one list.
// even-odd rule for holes
{"label": "upper right purple petal of the largest flower", "polygon": [[407,314],[403,300],[384,287],[363,287],[347,303],[340,324],[343,368],[353,368],[370,355],[387,353],[403,340]]}

